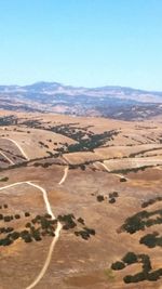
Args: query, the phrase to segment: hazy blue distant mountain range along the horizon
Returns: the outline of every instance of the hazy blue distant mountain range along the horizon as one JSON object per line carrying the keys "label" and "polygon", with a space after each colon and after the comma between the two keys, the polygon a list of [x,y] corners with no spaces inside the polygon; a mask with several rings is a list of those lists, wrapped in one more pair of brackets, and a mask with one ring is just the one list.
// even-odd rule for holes
{"label": "hazy blue distant mountain range along the horizon", "polygon": [[57,82],[0,86],[0,108],[143,119],[162,114],[162,92],[124,87],[75,88]]}

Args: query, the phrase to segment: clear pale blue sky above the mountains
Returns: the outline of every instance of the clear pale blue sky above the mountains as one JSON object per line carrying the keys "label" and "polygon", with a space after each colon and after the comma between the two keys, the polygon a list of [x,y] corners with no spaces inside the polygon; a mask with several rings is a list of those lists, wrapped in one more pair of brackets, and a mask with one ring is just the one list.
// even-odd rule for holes
{"label": "clear pale blue sky above the mountains", "polygon": [[0,84],[162,91],[162,0],[0,0]]}

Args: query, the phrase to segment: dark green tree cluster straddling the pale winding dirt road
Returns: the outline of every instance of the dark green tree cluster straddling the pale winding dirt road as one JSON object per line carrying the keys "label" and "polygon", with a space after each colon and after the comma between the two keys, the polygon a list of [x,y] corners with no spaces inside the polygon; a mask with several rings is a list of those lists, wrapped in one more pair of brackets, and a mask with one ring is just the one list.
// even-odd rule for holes
{"label": "dark green tree cluster straddling the pale winding dirt road", "polygon": [[[1,205],[0,209],[8,209],[8,205]],[[85,222],[82,218],[76,219],[73,214],[58,215],[57,219],[52,219],[51,214],[45,213],[43,215],[36,215],[31,219],[30,212],[25,212],[23,218],[27,218],[29,221],[25,224],[25,228],[17,231],[13,226],[0,226],[0,246],[10,246],[16,239],[21,238],[25,242],[40,241],[44,236],[55,236],[55,229],[57,222],[63,224],[63,229],[73,229],[76,236],[81,236],[83,239],[89,239],[91,235],[95,235],[93,228],[85,226]],[[10,215],[0,213],[1,222],[13,222],[14,220],[22,219],[21,214]],[[14,223],[13,223],[14,225]],[[81,227],[81,229],[80,229]]]}

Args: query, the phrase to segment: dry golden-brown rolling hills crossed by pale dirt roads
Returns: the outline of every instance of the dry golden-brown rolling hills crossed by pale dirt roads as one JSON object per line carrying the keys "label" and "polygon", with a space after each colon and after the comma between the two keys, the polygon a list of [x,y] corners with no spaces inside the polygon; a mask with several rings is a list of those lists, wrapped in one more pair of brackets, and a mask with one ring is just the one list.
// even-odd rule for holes
{"label": "dry golden-brown rolling hills crossed by pale dirt roads", "polygon": [[[150,272],[162,268],[161,246],[139,242],[153,232],[161,237],[161,223],[134,234],[122,229],[127,218],[162,209],[161,121],[13,111],[1,111],[0,119],[1,228],[28,229],[27,223],[36,226],[33,219],[46,212],[56,220],[55,236],[48,227],[41,239],[25,241],[21,235],[0,246],[0,288],[161,289],[162,276],[123,281],[141,272],[140,262],[111,268],[127,252],[148,255]],[[60,215],[68,214],[73,227],[64,227]],[[4,221],[6,215],[13,219]],[[95,232],[87,239],[77,234],[85,227]],[[0,239],[6,235],[1,232]]]}

